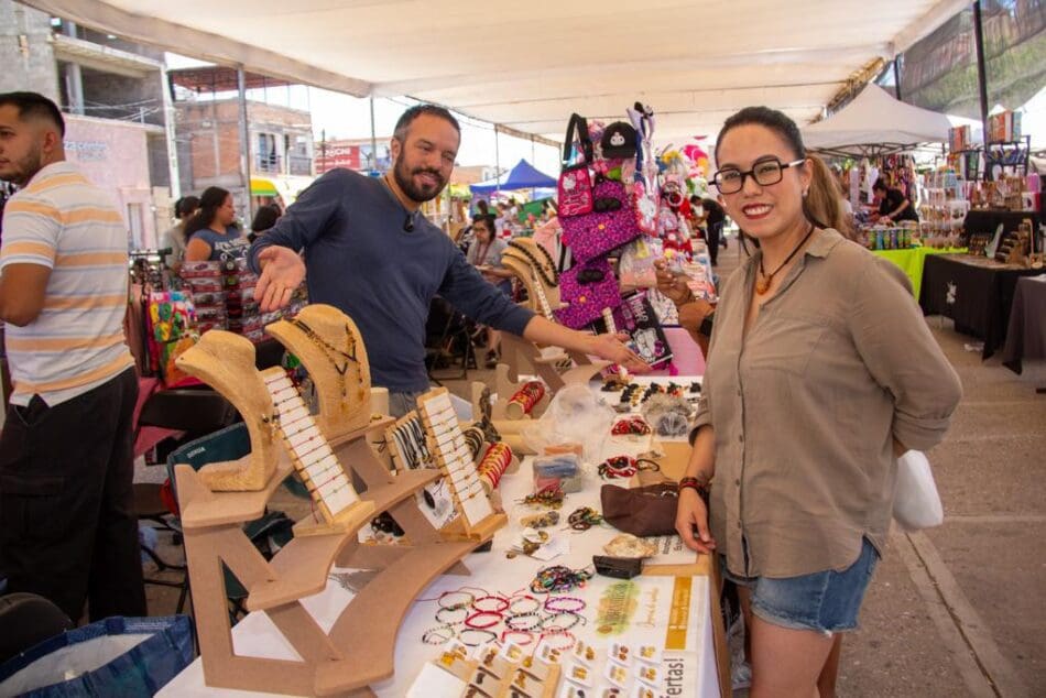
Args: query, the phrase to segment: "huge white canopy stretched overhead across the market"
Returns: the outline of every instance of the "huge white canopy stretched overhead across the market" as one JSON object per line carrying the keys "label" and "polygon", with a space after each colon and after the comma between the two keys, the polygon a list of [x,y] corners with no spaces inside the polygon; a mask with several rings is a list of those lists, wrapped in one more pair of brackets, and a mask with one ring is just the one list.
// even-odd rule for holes
{"label": "huge white canopy stretched overhead across the market", "polygon": [[658,143],[766,105],[806,123],[968,0],[22,0],[141,43],[562,140],[636,99]]}

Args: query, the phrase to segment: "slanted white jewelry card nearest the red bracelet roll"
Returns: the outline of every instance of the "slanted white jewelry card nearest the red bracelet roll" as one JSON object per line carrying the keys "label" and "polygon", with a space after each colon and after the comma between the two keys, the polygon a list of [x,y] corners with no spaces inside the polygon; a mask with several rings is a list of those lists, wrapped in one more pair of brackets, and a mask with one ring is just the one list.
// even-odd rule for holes
{"label": "slanted white jewelry card nearest the red bracelet roll", "polygon": [[466,521],[475,526],[493,515],[494,510],[476,472],[471,454],[465,446],[465,436],[458,426],[458,416],[450,404],[450,395],[446,391],[435,391],[428,396],[420,397],[417,405],[429,435],[429,443],[435,447],[436,460],[444,469]]}

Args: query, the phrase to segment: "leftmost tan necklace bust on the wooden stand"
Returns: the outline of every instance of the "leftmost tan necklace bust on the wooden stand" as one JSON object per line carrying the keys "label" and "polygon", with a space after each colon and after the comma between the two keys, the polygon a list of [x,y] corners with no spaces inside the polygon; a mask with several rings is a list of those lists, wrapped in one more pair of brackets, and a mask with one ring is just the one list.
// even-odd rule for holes
{"label": "leftmost tan necklace bust on the wooden stand", "polygon": [[224,330],[205,332],[195,347],[175,360],[189,375],[225,396],[243,417],[251,436],[251,452],[238,460],[205,466],[199,471],[214,491],[259,491],[276,469],[281,447],[274,435],[272,399],[254,369],[254,345]]}

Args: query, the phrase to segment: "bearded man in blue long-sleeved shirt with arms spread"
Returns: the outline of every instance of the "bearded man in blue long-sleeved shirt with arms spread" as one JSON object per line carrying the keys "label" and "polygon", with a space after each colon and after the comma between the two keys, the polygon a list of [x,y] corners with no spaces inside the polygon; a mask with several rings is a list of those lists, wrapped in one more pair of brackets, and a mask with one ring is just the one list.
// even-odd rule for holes
{"label": "bearded man in blue long-sleeved shirt with arms spread", "polygon": [[262,312],[285,306],[307,270],[309,301],[340,308],[359,326],[371,380],[389,389],[393,414],[428,390],[425,320],[437,294],[486,325],[643,371],[618,337],[571,330],[513,304],[418,212],[450,178],[460,137],[446,109],[412,107],[393,133],[391,172],[375,179],[333,170],[303,192],[251,247]]}

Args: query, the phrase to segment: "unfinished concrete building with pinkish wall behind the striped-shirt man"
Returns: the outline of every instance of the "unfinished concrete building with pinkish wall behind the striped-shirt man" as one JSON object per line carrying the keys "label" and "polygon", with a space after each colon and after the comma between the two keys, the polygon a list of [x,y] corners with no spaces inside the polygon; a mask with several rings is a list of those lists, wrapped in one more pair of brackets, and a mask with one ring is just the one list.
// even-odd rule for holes
{"label": "unfinished concrete building with pinkish wall behind the striped-shirt man", "polygon": [[32,90],[65,112],[66,155],[109,190],[131,248],[171,219],[163,53],[0,0],[0,91]]}

